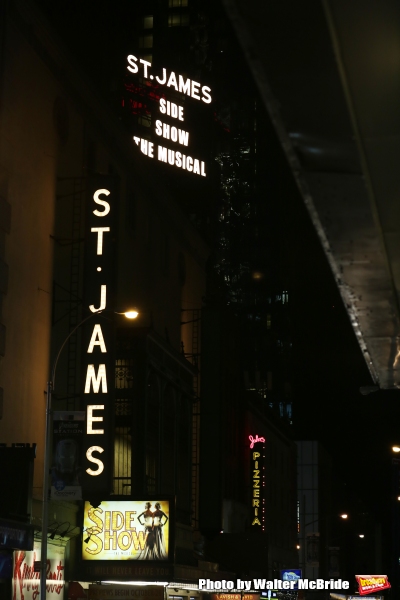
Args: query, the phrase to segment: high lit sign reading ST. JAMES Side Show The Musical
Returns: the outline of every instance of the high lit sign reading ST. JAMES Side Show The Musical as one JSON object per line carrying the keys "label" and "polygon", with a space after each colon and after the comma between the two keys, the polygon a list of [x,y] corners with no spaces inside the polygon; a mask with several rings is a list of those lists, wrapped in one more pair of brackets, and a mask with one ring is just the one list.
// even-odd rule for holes
{"label": "high lit sign reading ST. JAMES Side Show The Musical", "polygon": [[[185,94],[205,104],[209,104],[212,100],[211,89],[206,85],[201,85],[197,81],[176,74],[174,71],[167,72],[166,69],[162,69],[162,77],[153,75],[151,73],[151,63],[143,58],[138,59],[132,54],[128,56],[127,60],[127,69],[130,73],[136,74],[140,72],[140,76],[143,79],[155,79],[159,85],[173,89],[175,92]],[[148,158],[156,158],[161,162],[178,167],[194,175],[206,177],[205,162],[191,156],[186,150],[189,146],[189,132],[184,128],[184,107],[165,98],[160,98],[158,109],[160,118],[155,121],[155,135],[168,142],[172,142],[173,147],[169,148],[162,144],[155,145],[149,140],[134,136],[133,139],[136,145],[139,146],[140,151]],[[164,117],[169,117],[170,119],[174,119],[174,121],[172,124],[166,123],[163,120]]]}

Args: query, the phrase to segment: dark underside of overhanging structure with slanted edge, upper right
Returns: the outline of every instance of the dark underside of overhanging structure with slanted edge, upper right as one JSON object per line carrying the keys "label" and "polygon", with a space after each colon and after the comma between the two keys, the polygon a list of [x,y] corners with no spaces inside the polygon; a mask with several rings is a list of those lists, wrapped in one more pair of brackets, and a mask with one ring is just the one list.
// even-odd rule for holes
{"label": "dark underside of overhanging structure with slanted edge, upper right", "polygon": [[372,378],[400,388],[400,3],[223,2]]}

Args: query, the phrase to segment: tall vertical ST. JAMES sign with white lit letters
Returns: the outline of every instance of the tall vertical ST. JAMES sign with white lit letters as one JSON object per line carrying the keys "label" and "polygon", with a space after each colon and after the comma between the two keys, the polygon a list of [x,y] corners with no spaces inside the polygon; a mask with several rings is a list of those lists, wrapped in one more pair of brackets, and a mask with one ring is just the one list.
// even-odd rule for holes
{"label": "tall vertical ST. JAMES sign with white lit letters", "polygon": [[82,397],[86,404],[83,487],[96,494],[110,491],[113,464],[110,437],[114,326],[112,317],[105,318],[102,312],[113,309],[117,188],[113,178],[100,176],[89,179],[88,188],[84,306],[93,317],[83,331]]}

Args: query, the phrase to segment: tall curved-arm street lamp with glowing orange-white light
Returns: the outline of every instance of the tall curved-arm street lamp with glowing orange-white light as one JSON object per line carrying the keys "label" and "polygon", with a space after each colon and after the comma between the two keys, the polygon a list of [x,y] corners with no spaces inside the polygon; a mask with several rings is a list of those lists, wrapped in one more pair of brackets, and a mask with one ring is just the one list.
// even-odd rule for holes
{"label": "tall curved-arm street lamp with glowing orange-white light", "polygon": [[[45,430],[45,442],[44,442],[44,467],[43,467],[43,495],[42,495],[42,540],[40,546],[40,600],[46,600],[46,570],[47,570],[47,528],[49,524],[49,472],[50,472],[50,447],[51,447],[51,417],[52,417],[52,394],[55,384],[56,368],[58,359],[60,358],[61,352],[63,351],[65,344],[69,338],[79,329],[86,321],[92,317],[101,314],[102,310],[97,310],[88,315],[83,319],[76,327],[74,327],[63,341],[57,356],[54,360],[53,367],[50,372],[50,379],[47,382],[46,388],[46,430]],[[136,310],[130,310],[124,313],[118,313],[124,315],[128,319],[135,319],[139,313]]]}

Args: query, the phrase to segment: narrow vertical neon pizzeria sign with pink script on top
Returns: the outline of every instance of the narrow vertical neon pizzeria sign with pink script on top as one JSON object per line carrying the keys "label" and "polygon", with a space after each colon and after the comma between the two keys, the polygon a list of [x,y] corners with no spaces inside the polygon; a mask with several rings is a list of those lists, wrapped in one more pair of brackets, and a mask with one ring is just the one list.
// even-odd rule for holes
{"label": "narrow vertical neon pizzeria sign with pink script on top", "polygon": [[265,531],[265,438],[249,435],[251,527]]}

